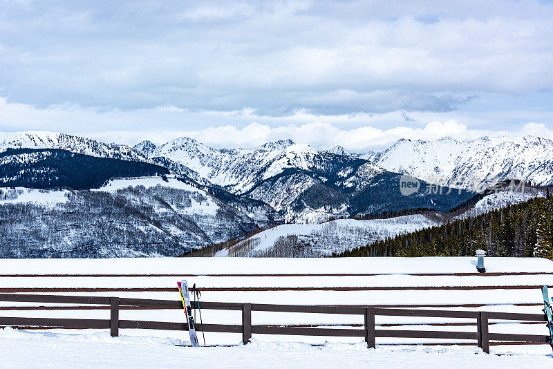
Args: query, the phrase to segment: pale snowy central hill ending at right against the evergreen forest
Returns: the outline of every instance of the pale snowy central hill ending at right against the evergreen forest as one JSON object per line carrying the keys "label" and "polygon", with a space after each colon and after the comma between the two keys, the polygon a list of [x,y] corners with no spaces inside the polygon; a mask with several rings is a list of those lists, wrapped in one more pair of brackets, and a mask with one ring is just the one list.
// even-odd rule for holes
{"label": "pale snowy central hill ending at right against the evergreen forest", "polygon": [[439,223],[422,214],[388,219],[337,219],[286,224],[246,238],[216,256],[327,256]]}

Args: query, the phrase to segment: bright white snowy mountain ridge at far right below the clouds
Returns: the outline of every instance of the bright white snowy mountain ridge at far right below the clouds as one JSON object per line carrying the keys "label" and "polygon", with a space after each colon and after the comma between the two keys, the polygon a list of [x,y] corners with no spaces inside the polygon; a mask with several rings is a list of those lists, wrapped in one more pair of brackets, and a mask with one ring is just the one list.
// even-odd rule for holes
{"label": "bright white snowy mountain ridge at far right below the clouds", "polygon": [[474,191],[510,178],[538,185],[553,183],[553,141],[529,135],[471,141],[400,140],[390,149],[366,158],[388,171]]}

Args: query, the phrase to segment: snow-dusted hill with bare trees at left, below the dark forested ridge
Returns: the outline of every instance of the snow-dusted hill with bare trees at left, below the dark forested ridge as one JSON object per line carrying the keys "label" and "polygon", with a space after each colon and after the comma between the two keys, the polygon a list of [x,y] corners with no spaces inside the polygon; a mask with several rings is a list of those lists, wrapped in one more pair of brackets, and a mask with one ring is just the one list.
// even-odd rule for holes
{"label": "snow-dusted hill with bare trees at left, below the dark forested ridge", "polygon": [[93,191],[0,191],[0,258],[179,256],[259,225],[171,176],[116,178]]}

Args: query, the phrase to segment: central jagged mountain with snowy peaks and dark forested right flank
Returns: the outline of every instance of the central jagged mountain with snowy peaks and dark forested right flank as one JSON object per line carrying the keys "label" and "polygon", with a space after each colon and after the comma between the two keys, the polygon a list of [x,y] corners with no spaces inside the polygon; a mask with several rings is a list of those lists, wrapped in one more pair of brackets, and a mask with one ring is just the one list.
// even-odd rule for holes
{"label": "central jagged mountain with snowy peaks and dark forested right flank", "polygon": [[446,211],[471,197],[470,193],[401,196],[399,174],[357,158],[341,146],[318,151],[281,140],[252,150],[229,150],[177,138],[158,147],[140,142],[134,149],[158,164],[168,159],[185,165],[194,180],[266,202],[285,220],[300,223],[409,207]]}

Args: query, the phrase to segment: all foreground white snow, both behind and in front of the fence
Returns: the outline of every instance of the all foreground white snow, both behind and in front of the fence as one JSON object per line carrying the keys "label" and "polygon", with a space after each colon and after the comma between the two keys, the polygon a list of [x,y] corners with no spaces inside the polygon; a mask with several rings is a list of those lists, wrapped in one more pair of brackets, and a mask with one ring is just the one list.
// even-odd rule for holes
{"label": "all foreground white snow, both behind and in front of the fence", "polygon": [[[541,313],[541,292],[538,288],[524,286],[553,286],[552,261],[538,258],[486,258],[485,264],[489,273],[507,274],[474,275],[476,258],[3,259],[0,260],[0,289],[3,292],[19,290],[21,293],[28,287],[40,287],[59,289],[42,292],[44,294],[178,300],[176,282],[185,278],[190,285],[196,283],[202,290],[201,301],[398,308],[417,305],[423,309]],[[35,276],[27,276],[29,274]],[[448,290],[451,286],[476,287],[476,290]],[[478,289],[486,286],[493,287],[490,290]],[[505,286],[516,287],[514,290],[505,290]],[[256,287],[261,290],[232,290],[236,287]],[[274,287],[281,290],[267,290]],[[309,287],[311,290],[297,290],[298,287]],[[351,289],[321,290],[328,287]],[[371,290],[371,287],[384,289]],[[393,287],[406,287],[406,290],[397,291]],[[409,289],[411,287],[413,289]],[[416,290],[415,287],[429,289]],[[97,290],[82,291],[85,288]],[[156,288],[162,290],[151,290]],[[219,290],[211,290],[213,288]],[[57,310],[56,307],[60,305],[52,303],[40,304],[49,305],[51,310],[6,310],[9,306],[32,305],[36,304],[1,302],[0,315],[109,319],[109,310],[95,310],[92,307]],[[202,314],[203,323],[241,323],[240,311],[203,310]],[[120,310],[120,319],[182,322],[183,314],[182,310]],[[361,329],[363,317],[254,311],[252,323]],[[476,332],[476,325],[471,319],[377,316],[376,324],[380,330]],[[543,323],[522,324],[516,321],[491,320],[489,330],[547,334]],[[203,343],[201,334],[199,339]],[[491,346],[492,355],[486,355],[476,347],[475,341],[451,339],[377,338],[377,349],[373,350],[367,349],[359,337],[254,334],[252,343],[243,346],[241,334],[206,332],[205,341],[209,346],[231,347],[192,349],[175,346],[189,344],[187,332],[181,331],[122,329],[120,337],[109,337],[107,330],[4,328],[0,329],[0,341],[0,367],[13,368],[38,366],[36,363],[40,363],[41,368],[176,368],[182,367],[183,361],[194,362],[198,368],[335,368],[371,365],[405,368],[427,368],[429,365],[441,365],[443,368],[530,368],[553,363],[550,355],[552,349],[546,344]],[[416,346],[422,343],[449,343],[454,346]],[[458,343],[469,346],[458,346]],[[93,357],[90,352],[94,352]],[[509,356],[496,356],[494,353]]]}

